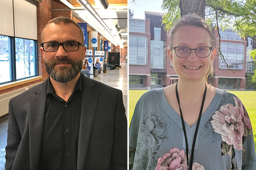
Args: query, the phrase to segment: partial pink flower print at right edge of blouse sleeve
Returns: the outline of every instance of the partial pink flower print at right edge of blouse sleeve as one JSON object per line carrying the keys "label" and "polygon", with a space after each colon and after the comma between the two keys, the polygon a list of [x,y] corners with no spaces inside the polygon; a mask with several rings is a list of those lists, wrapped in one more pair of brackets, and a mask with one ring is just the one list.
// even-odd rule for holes
{"label": "partial pink flower print at right edge of blouse sleeve", "polygon": [[240,114],[242,116],[242,122],[244,123],[244,136],[247,137],[248,135],[252,134],[252,127],[251,127],[251,121],[249,119],[249,115],[242,104],[241,100],[239,98],[233,97],[235,100],[235,105],[238,107]]}

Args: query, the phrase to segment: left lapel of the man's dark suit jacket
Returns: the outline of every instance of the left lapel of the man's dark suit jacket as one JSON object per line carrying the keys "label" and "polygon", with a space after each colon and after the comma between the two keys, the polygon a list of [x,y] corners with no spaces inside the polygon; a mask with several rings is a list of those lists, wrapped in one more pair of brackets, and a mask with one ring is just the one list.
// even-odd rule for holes
{"label": "left lapel of the man's dark suit jacket", "polygon": [[43,128],[45,122],[45,106],[46,106],[46,83],[43,82],[38,89],[36,95],[29,98],[31,106],[29,114],[29,154],[30,168],[37,169],[40,150],[42,145]]}

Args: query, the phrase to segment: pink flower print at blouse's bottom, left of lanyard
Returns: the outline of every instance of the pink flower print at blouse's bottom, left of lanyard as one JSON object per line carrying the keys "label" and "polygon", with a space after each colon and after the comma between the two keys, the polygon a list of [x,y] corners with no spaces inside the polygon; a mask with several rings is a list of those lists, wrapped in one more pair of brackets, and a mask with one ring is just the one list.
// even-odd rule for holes
{"label": "pink flower print at blouse's bottom, left of lanyard", "polygon": [[156,170],[187,170],[187,157],[184,150],[173,148],[158,158]]}

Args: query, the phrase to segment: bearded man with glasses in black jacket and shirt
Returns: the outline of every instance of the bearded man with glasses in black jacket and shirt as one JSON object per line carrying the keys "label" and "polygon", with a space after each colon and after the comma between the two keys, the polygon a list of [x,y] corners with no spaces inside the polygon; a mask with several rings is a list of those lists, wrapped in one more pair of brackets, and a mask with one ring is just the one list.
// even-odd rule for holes
{"label": "bearded man with glasses in black jacket and shirt", "polygon": [[42,33],[48,79],[9,102],[6,169],[126,169],[122,92],[81,74],[86,48],[66,17]]}

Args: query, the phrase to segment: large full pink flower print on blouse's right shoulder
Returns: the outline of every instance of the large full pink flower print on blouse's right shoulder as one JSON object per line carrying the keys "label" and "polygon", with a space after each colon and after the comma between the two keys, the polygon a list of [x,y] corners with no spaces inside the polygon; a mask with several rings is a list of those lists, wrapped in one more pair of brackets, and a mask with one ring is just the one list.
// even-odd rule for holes
{"label": "large full pink flower print on blouse's right shoulder", "polygon": [[224,142],[233,145],[239,151],[242,150],[244,125],[239,108],[229,103],[221,106],[215,113],[211,121],[214,131],[221,135]]}

